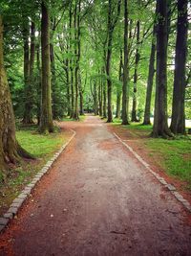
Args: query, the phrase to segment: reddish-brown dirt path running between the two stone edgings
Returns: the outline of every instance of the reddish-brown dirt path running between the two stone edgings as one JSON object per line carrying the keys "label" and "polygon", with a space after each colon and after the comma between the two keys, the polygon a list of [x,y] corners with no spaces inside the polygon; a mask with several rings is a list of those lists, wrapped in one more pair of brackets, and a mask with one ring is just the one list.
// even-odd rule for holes
{"label": "reddish-brown dirt path running between the two stone edgings", "polygon": [[180,203],[106,124],[67,126],[74,140],[0,237],[0,255],[191,255]]}

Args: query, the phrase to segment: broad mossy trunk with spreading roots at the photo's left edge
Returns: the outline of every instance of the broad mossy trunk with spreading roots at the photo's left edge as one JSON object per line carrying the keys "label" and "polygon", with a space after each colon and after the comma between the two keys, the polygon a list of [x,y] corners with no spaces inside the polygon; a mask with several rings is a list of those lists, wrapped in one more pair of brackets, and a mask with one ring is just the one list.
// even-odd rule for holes
{"label": "broad mossy trunk with spreading roots at the photo's left edge", "polygon": [[20,156],[32,156],[24,151],[15,138],[15,121],[11,105],[11,93],[3,58],[3,21],[0,15],[0,170],[8,163],[16,163]]}

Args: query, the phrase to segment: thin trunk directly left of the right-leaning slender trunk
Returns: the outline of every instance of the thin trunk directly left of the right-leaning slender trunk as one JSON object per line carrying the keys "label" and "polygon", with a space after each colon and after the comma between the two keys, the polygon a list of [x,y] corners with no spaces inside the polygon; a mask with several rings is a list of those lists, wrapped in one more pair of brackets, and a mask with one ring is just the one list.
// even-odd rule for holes
{"label": "thin trunk directly left of the right-leaning slender trunk", "polygon": [[139,62],[139,58],[140,58],[140,54],[139,54],[139,32],[140,32],[140,24],[139,24],[139,20],[138,20],[138,22],[137,22],[136,64],[135,64],[135,72],[134,72],[134,94],[133,94],[132,122],[138,122],[138,118],[137,118],[137,105],[138,105],[137,82],[138,82],[138,62]]}

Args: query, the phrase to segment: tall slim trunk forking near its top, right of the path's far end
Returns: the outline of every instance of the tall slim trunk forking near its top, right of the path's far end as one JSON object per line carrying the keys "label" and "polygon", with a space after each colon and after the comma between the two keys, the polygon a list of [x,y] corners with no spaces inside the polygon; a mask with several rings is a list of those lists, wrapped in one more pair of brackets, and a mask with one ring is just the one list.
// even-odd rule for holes
{"label": "tall slim trunk forking near its top, right of the path's far end", "polygon": [[[107,122],[113,122],[112,111],[112,79],[111,79],[111,59],[112,59],[112,46],[113,46],[113,34],[117,25],[118,16],[120,13],[121,0],[117,1],[117,14],[113,13],[113,1],[108,2],[108,45],[107,45],[107,58],[106,58],[106,75],[107,75],[107,93],[108,93],[108,119]],[[115,4],[116,5],[116,4]],[[115,16],[114,16],[115,15]]]}

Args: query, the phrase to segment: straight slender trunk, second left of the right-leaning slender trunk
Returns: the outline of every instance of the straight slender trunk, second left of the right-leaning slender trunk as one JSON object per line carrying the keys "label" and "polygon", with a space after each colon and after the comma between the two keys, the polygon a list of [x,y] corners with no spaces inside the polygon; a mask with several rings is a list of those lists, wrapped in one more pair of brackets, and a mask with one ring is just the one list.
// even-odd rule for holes
{"label": "straight slender trunk, second left of the right-leaning slender trunk", "polygon": [[122,85],[122,125],[128,125],[129,113],[128,0],[124,0],[124,67]]}

